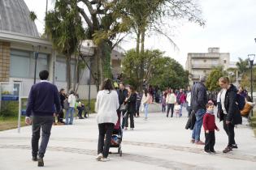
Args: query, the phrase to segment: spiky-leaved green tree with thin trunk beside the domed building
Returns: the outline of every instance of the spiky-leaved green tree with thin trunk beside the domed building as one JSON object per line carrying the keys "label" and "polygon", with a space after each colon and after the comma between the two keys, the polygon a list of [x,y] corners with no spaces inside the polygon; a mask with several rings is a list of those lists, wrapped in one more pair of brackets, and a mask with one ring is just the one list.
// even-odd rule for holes
{"label": "spiky-leaved green tree with thin trunk beside the domed building", "polygon": [[60,0],[55,2],[54,11],[46,15],[46,35],[52,40],[54,49],[66,56],[67,90],[72,86],[72,54],[79,53],[81,41],[85,40],[85,30],[78,11],[76,0]]}

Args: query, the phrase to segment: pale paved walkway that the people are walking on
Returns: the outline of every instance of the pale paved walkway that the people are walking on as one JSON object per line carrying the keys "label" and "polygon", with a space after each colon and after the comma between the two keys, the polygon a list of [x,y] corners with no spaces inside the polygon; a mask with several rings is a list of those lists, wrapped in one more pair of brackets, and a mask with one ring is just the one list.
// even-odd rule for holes
{"label": "pale paved walkway that the people are walking on", "polygon": [[[256,169],[256,138],[249,125],[236,128],[239,149],[223,154],[228,138],[221,124],[216,132],[217,155],[206,155],[203,146],[189,143],[191,131],[185,130],[187,113],[181,118],[167,118],[163,113],[150,113],[148,121],[135,118],[135,130],[124,131],[123,157],[110,155],[111,161],[95,160],[98,126],[95,114],[75,125],[54,126],[45,157],[46,169]],[[245,124],[248,124],[245,121]],[[31,161],[31,126],[0,132],[0,169],[37,169]],[[204,135],[202,135],[204,140]],[[111,148],[111,151],[117,151]]]}

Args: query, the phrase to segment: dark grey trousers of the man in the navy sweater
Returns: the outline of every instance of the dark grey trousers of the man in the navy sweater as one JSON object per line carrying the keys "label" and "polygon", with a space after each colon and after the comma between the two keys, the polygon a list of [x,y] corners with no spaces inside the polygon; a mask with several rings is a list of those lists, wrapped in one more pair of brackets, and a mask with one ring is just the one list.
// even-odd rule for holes
{"label": "dark grey trousers of the man in the navy sweater", "polygon": [[38,144],[41,133],[41,144],[38,156],[43,158],[50,138],[50,130],[53,125],[54,117],[33,117],[32,118],[32,155],[37,156]]}

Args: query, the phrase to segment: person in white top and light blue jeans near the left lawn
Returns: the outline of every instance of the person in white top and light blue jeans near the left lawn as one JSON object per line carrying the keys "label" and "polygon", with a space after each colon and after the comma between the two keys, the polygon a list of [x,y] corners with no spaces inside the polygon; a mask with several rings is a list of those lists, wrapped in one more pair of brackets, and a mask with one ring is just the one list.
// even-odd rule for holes
{"label": "person in white top and light blue jeans near the left lawn", "polygon": [[65,125],[73,125],[73,118],[74,118],[74,112],[75,112],[75,105],[76,105],[76,96],[74,95],[74,91],[69,91],[69,96],[68,96],[68,110],[66,113],[66,121]]}

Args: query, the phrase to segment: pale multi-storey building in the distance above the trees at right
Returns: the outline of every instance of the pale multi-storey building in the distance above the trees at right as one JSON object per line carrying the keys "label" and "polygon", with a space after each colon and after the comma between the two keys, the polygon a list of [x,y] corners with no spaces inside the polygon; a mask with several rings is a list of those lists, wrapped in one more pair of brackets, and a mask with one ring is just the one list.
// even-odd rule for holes
{"label": "pale multi-storey building in the distance above the trees at right", "polygon": [[188,53],[186,70],[189,70],[189,83],[199,80],[199,76],[210,74],[213,67],[223,66],[227,70],[230,66],[230,54],[220,53],[219,48],[209,48],[208,53]]}

